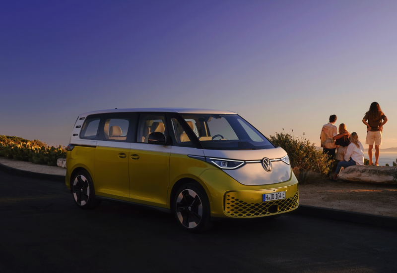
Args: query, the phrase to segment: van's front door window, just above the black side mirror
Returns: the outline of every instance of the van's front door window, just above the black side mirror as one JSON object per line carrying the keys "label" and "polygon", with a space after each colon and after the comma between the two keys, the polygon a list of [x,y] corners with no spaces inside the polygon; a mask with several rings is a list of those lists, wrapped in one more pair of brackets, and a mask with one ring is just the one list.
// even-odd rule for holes
{"label": "van's front door window, just above the black side mirror", "polygon": [[136,142],[147,143],[149,135],[154,132],[164,134],[165,139],[167,139],[166,129],[164,114],[141,114]]}

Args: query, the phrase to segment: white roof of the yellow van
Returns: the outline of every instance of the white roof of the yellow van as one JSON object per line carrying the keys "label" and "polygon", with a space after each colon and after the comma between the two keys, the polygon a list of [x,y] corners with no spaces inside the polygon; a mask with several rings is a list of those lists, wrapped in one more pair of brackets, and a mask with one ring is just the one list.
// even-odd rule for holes
{"label": "white roof of the yellow van", "polygon": [[117,113],[117,112],[174,112],[186,114],[235,114],[232,111],[214,110],[214,109],[196,109],[196,108],[129,108],[129,109],[108,109],[86,112],[79,116],[87,116],[90,114],[101,113]]}

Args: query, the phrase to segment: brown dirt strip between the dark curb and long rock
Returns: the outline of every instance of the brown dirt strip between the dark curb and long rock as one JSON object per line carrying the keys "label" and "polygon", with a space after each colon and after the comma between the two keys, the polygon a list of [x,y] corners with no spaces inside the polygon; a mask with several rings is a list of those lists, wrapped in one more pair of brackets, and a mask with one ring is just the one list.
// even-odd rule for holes
{"label": "brown dirt strip between the dark curb and long rock", "polygon": [[299,204],[397,217],[397,185],[332,182],[313,177],[299,185]]}

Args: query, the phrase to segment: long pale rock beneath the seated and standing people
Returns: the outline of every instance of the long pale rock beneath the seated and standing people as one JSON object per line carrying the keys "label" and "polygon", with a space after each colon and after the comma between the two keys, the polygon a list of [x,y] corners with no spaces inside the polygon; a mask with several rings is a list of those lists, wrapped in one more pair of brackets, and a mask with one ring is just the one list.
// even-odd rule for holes
{"label": "long pale rock beneath the seated and standing people", "polygon": [[339,173],[338,179],[352,182],[397,184],[397,168],[365,165],[350,166]]}

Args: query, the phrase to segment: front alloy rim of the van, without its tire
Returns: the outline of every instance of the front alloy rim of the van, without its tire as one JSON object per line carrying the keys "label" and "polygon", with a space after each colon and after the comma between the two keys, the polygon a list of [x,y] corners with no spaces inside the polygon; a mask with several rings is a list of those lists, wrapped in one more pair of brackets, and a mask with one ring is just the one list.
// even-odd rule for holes
{"label": "front alloy rim of the van, without its tire", "polygon": [[196,227],[202,218],[202,204],[199,195],[190,189],[183,190],[177,199],[177,216],[187,228]]}

